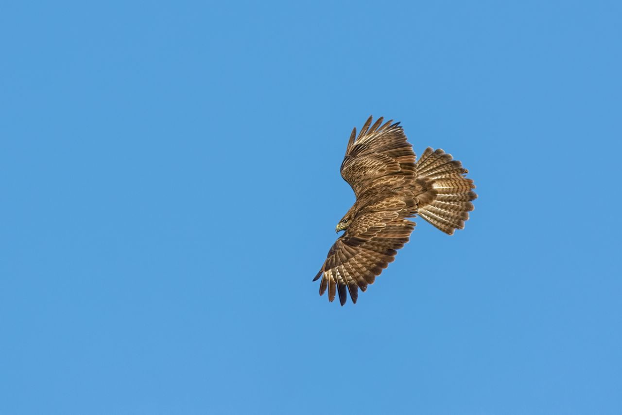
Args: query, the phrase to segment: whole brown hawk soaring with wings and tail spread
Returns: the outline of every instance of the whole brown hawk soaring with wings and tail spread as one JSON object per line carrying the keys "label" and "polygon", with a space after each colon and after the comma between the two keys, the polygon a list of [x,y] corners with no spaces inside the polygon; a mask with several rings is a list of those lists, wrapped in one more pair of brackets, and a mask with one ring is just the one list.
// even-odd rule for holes
{"label": "whole brown hawk soaring with wings and tail spread", "polygon": [[372,117],[356,135],[352,130],[341,177],[354,190],[356,202],[337,224],[345,231],[328,251],[313,281],[320,282],[320,295],[328,289],[332,302],[338,293],[341,305],[346,290],[356,303],[358,289],[365,291],[397,249],[409,241],[419,215],[446,234],[463,229],[471,201],[477,198],[468,170],[443,150],[428,147],[415,161],[412,145],[399,123]]}

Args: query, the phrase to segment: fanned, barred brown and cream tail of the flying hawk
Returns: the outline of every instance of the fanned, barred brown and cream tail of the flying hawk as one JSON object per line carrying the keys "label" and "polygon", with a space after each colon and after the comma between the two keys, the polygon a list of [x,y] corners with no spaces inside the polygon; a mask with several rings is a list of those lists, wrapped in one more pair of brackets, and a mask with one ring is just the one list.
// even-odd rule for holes
{"label": "fanned, barred brown and cream tail of the flying hawk", "polygon": [[477,198],[473,180],[463,175],[468,170],[452,155],[428,147],[415,164],[417,182],[424,188],[417,195],[419,216],[446,234],[463,229],[468,212],[473,210],[471,201]]}

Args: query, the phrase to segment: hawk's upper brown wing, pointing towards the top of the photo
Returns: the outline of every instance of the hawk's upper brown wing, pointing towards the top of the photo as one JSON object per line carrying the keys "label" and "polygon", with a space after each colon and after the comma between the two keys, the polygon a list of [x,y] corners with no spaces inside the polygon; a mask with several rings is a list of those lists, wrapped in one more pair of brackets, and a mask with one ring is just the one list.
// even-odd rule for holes
{"label": "hawk's upper brown wing, pointing towards the top of the photo", "polygon": [[[356,136],[352,130],[346,155],[341,163],[341,177],[347,181],[356,198],[375,188],[402,188],[414,179],[415,153],[399,123],[384,123],[383,117],[371,125],[369,117]],[[370,128],[371,125],[371,128]]]}

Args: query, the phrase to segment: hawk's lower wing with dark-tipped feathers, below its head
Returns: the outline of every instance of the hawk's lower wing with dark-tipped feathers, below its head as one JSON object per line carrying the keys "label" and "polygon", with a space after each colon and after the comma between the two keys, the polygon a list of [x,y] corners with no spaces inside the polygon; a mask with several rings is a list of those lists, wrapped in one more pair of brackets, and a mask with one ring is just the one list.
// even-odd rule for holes
{"label": "hawk's lower wing with dark-tipped feathers, below its head", "polygon": [[415,223],[400,219],[396,211],[368,212],[357,216],[345,234],[328,252],[322,269],[313,281],[322,277],[320,295],[328,289],[328,300],[339,294],[341,305],[346,303],[346,290],[356,303],[358,289],[365,291],[389,262],[397,249],[409,241]]}

